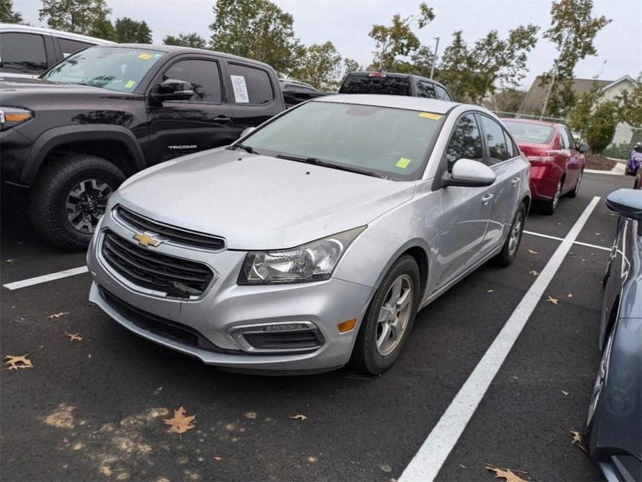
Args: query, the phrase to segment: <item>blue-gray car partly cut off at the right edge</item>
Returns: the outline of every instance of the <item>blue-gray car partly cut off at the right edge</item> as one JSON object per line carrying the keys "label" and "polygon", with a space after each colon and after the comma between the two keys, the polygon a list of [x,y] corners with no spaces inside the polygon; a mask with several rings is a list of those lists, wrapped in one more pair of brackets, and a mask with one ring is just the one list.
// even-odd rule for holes
{"label": "blue-gray car partly cut off at the right edge", "polygon": [[620,189],[607,206],[620,217],[605,275],[598,366],[584,426],[608,481],[642,480],[642,192]]}

